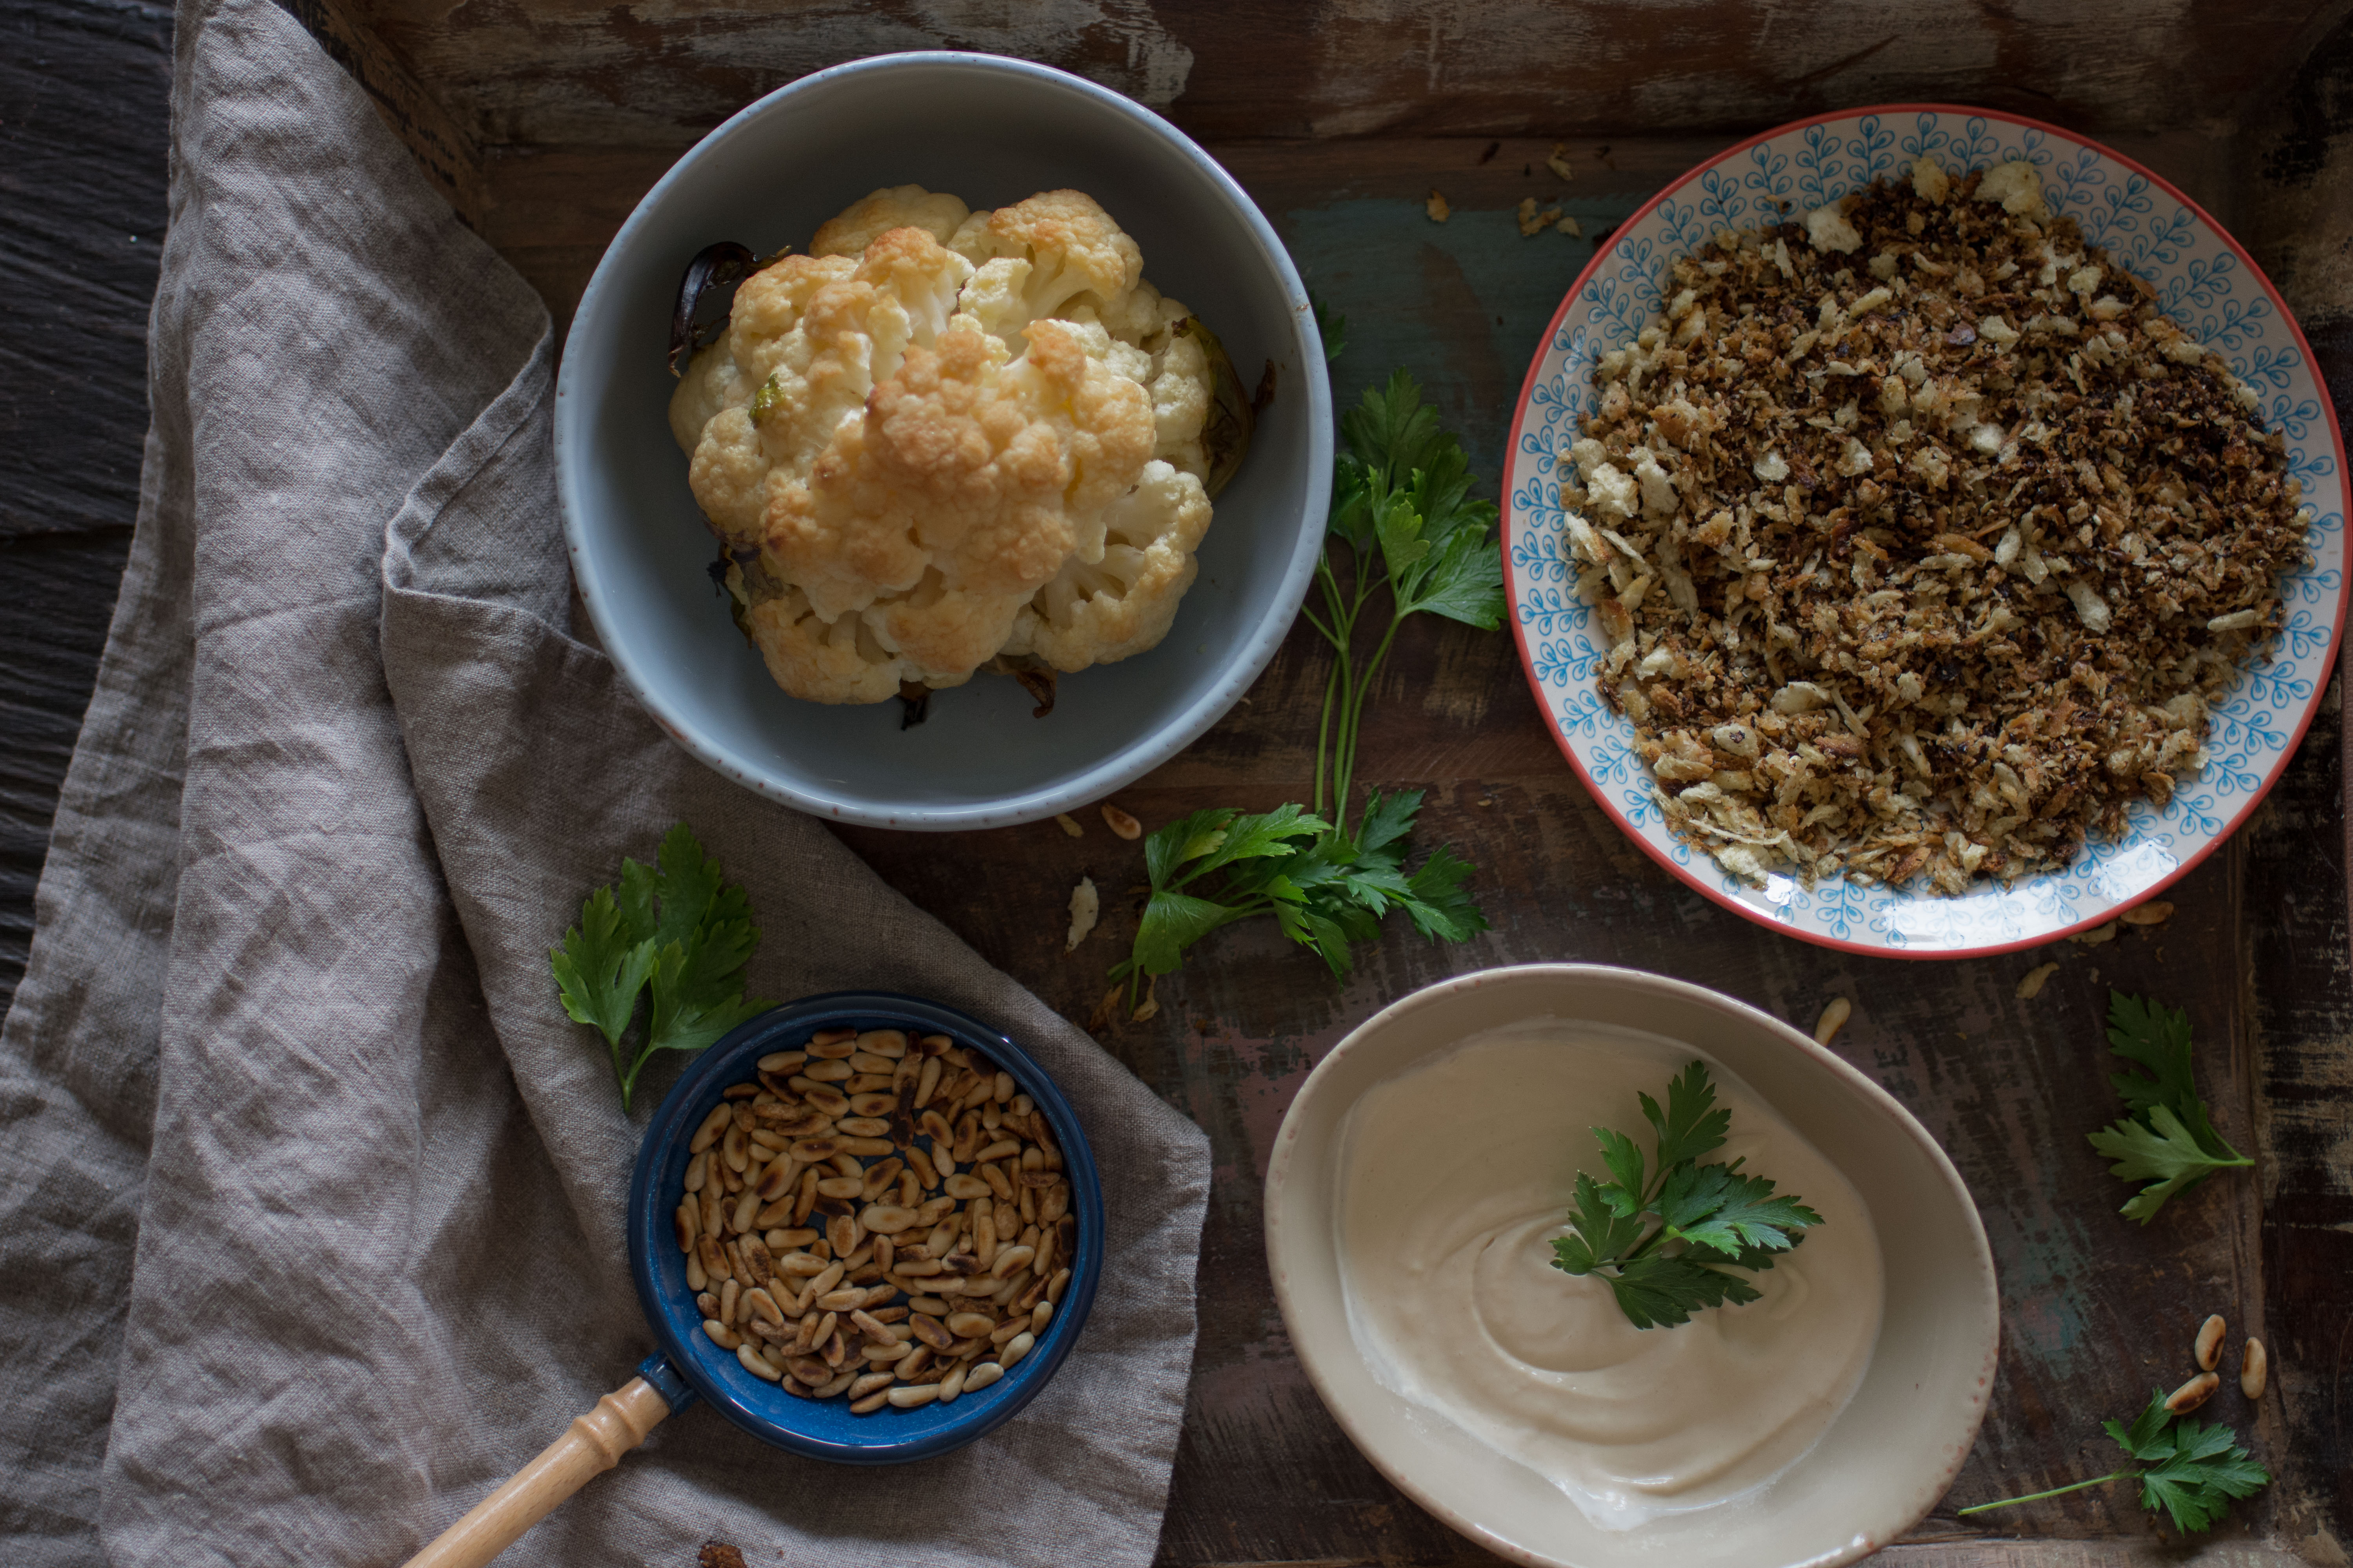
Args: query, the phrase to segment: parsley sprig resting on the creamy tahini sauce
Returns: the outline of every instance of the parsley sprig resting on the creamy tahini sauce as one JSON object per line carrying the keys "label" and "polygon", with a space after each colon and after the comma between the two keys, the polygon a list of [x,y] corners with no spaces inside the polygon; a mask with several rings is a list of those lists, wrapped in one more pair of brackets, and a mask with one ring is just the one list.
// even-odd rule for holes
{"label": "parsley sprig resting on the creamy tahini sauce", "polygon": [[1715,1105],[1708,1065],[1692,1063],[1666,1086],[1666,1110],[1649,1095],[1642,1119],[1657,1147],[1649,1164],[1626,1133],[1591,1128],[1602,1145],[1612,1182],[1577,1173],[1574,1237],[1553,1241],[1553,1267],[1609,1281],[1619,1312],[1635,1328],[1675,1328],[1704,1307],[1758,1300],[1758,1288],[1732,1269],[1769,1269],[1821,1225],[1795,1194],[1774,1192],[1772,1178],[1699,1164],[1725,1145],[1732,1112]]}

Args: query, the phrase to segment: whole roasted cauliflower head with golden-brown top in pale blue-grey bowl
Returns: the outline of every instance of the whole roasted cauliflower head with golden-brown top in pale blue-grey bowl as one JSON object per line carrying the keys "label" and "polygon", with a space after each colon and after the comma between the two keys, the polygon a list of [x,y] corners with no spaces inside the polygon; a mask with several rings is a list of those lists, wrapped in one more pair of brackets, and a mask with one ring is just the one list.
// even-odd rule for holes
{"label": "whole roasted cauliflower head with golden-brown top in pale blue-grey bowl", "polygon": [[744,280],[671,430],[776,684],[880,703],[1167,635],[1221,357],[1094,197],[896,186]]}

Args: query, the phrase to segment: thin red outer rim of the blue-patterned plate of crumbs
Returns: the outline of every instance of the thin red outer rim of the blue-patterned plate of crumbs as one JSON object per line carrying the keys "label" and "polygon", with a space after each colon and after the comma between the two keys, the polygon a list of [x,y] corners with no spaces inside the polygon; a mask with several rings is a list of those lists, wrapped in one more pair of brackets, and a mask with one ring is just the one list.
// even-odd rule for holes
{"label": "thin red outer rim of the blue-patterned plate of crumbs", "polygon": [[[1835,110],[1826,110],[1826,113],[1819,113],[1819,115],[1800,115],[1795,120],[1784,120],[1781,125],[1777,125],[1777,127],[1772,127],[1767,132],[1758,132],[1755,136],[1746,136],[1741,141],[1734,141],[1732,146],[1722,148],[1720,153],[1711,153],[1708,158],[1699,160],[1697,165],[1692,165],[1689,169],[1685,169],[1680,176],[1675,176],[1673,181],[1668,181],[1666,186],[1661,186],[1659,193],[1652,195],[1647,202],[1642,202],[1633,214],[1628,214],[1609,233],[1609,237],[1602,244],[1593,247],[1593,259],[1584,266],[1581,273],[1577,273],[1577,280],[1569,284],[1567,294],[1560,296],[1560,308],[1553,310],[1553,320],[1546,324],[1544,336],[1537,339],[1537,353],[1529,355],[1527,376],[1520,381],[1520,400],[1518,400],[1518,404],[1513,407],[1513,414],[1511,414],[1511,444],[1504,449],[1504,512],[1501,512],[1501,524],[1497,527],[1497,543],[1499,543],[1499,548],[1504,552],[1506,595],[1508,595],[1508,585],[1511,585],[1511,541],[1513,541],[1513,524],[1515,524],[1515,508],[1513,508],[1513,496],[1511,496],[1511,454],[1515,454],[1520,449],[1520,433],[1522,433],[1522,428],[1527,423],[1527,411],[1529,411],[1529,407],[1534,402],[1534,395],[1537,395],[1537,374],[1544,369],[1544,360],[1546,360],[1546,353],[1551,350],[1553,336],[1560,331],[1560,324],[1567,320],[1569,308],[1577,303],[1577,296],[1584,294],[1586,282],[1602,268],[1602,263],[1617,256],[1619,240],[1626,235],[1626,230],[1631,230],[1635,223],[1640,223],[1642,219],[1647,219],[1659,207],[1659,202],[1668,200],[1671,195],[1675,195],[1678,190],[1682,190],[1685,186],[1689,186],[1692,181],[1697,181],[1708,169],[1720,167],[1722,162],[1727,162],[1727,160],[1746,153],[1753,146],[1760,146],[1760,143],[1772,141],[1777,136],[1788,136],[1791,132],[1800,132],[1800,129],[1805,129],[1809,125],[1824,125],[1828,120],[1857,120],[1857,118],[1864,118],[1864,115],[1911,115],[1911,113],[1977,115],[1977,118],[1984,118],[1984,120],[2000,120],[2005,125],[2019,125],[2019,127],[2026,127],[2026,129],[2045,132],[2049,136],[2059,136],[2059,139],[2064,139],[2064,141],[2068,141],[2073,146],[2089,148],[2089,150],[2099,153],[2101,158],[2113,158],[2125,169],[2139,174],[2151,186],[2155,186],[2158,190],[2162,190],[2172,200],[2181,202],[2191,212],[2191,216],[2195,216],[2198,223],[2202,223],[2207,228],[2207,233],[2212,233],[2214,240],[2224,249],[2228,249],[2233,256],[2238,256],[2240,266],[2245,266],[2247,275],[2254,277],[2261,284],[2264,296],[2271,299],[2273,308],[2280,313],[2280,322],[2292,334],[2292,339],[2297,343],[2297,350],[2304,355],[2304,362],[2311,364],[2311,367],[2318,367],[2318,360],[2313,357],[2313,346],[2304,336],[2304,324],[2297,322],[2297,313],[2287,308],[2287,301],[2280,296],[2278,284],[2273,284],[2271,275],[2264,273],[2261,266],[2257,266],[2254,256],[2247,254],[2247,247],[2240,244],[2238,237],[2228,228],[2224,228],[2221,221],[2217,221],[2212,212],[2207,212],[2205,207],[2200,207],[2198,202],[2193,202],[2169,179],[2165,179],[2155,169],[2141,165],[2139,160],[2118,153],[2115,148],[2111,148],[2104,141],[2085,136],[2082,132],[2073,132],[2073,129],[2068,129],[2064,125],[2054,125],[2049,120],[2035,120],[2031,115],[2014,115],[2014,113],[1998,110],[1998,108],[1977,108],[1977,106],[1969,106],[1969,103],[1927,103],[1927,101],[1922,101],[1922,103],[1864,103],[1864,106],[1857,106],[1857,108],[1835,108]],[[2339,494],[2339,501],[2341,503],[2353,503],[2353,489],[2348,489],[2348,477],[2346,477],[2346,456],[2348,454],[2346,454],[2344,433],[2337,425],[2337,404],[2329,400],[2327,378],[2320,376],[2318,369],[2313,371],[2313,388],[2315,388],[2315,395],[2320,400],[2320,428],[2327,430],[2327,442],[2334,447],[2334,454],[2337,454],[2337,473],[2339,473],[2337,494]],[[2348,512],[2348,527],[2353,527],[2353,512]],[[2329,630],[2329,637],[2332,637],[2329,646],[2341,646],[2344,644],[2346,607],[2348,604],[2353,604],[2353,571],[2346,574],[2346,581],[2337,590],[2337,611],[2334,611],[2334,621],[2329,623],[2329,628],[2332,628]],[[1541,712],[1551,715],[1551,701],[1544,693],[1544,682],[1537,679],[1537,661],[1534,661],[1534,656],[1529,654],[1529,646],[1527,646],[1527,625],[1518,616],[1511,618],[1511,637],[1513,637],[1513,644],[1520,651],[1520,675],[1527,679],[1527,686],[1529,686],[1529,691],[1537,698],[1537,708]],[[1560,726],[1553,724],[1551,717],[1546,717],[1544,729],[1551,733],[1553,745],[1560,748],[1560,755],[1567,757],[1569,769],[1577,773],[1577,780],[1586,788],[1586,795],[1593,797],[1593,802],[1602,809],[1602,813],[1612,823],[1617,823],[1617,827],[1635,844],[1635,849],[1640,849],[1645,856],[1649,856],[1661,867],[1666,867],[1666,872],[1675,882],[1680,882],[1682,886],[1692,889],[1701,898],[1732,910],[1741,919],[1755,922],[1760,926],[1779,931],[1781,936],[1791,936],[1791,938],[1795,938],[1800,943],[1814,943],[1817,947],[1835,947],[1838,952],[1857,952],[1857,954],[1875,957],[1875,959],[1988,959],[1988,957],[1998,957],[2002,952],[2024,952],[2026,947],[2047,947],[2049,943],[2057,943],[2061,938],[2075,936],[2080,931],[2089,931],[2094,926],[2104,926],[2104,924],[2113,922],[2118,917],[2118,912],[2137,907],[2141,903],[2148,903],[2151,898],[2158,898],[2160,893],[2165,893],[2165,889],[2169,889],[2172,884],[2181,882],[2193,870],[2198,870],[2198,865],[2207,856],[2212,856],[2217,849],[2221,849],[2221,844],[2226,839],[2231,839],[2238,832],[2238,827],[2249,816],[2254,816],[2254,809],[2264,804],[2264,797],[2271,795],[2271,788],[2275,783],[2280,783],[2280,776],[2287,771],[2287,764],[2304,748],[2304,733],[2313,726],[2313,719],[2320,715],[2320,703],[2322,703],[2325,696],[2327,696],[2327,682],[2315,682],[2313,684],[2313,696],[2304,703],[2304,712],[2297,717],[2294,733],[2287,736],[2287,745],[2280,748],[2278,762],[2273,762],[2273,766],[2264,776],[2261,785],[2252,795],[2247,795],[2247,799],[2231,816],[2231,820],[2226,820],[2217,832],[2207,835],[2207,839],[2195,851],[2191,851],[2188,856],[2184,856],[2184,860],[2172,872],[2167,872],[2165,877],[2160,877],[2151,886],[2141,889],[2137,896],[2122,898],[2122,900],[2115,900],[2115,903],[2108,903],[2108,905],[2101,905],[2097,912],[2092,912],[2092,914],[2087,914],[2087,917],[2082,917],[2082,919],[2078,919],[2073,924],[2054,926],[2054,929],[2035,933],[2035,936],[2007,938],[2007,940],[1998,940],[1998,943],[1955,945],[1955,947],[1925,947],[1925,945],[1922,947],[1911,947],[1911,945],[1894,947],[1894,945],[1880,945],[1880,943],[1857,943],[1857,940],[1849,940],[1849,938],[1842,938],[1842,936],[1833,936],[1828,931],[1812,931],[1812,929],[1805,929],[1805,926],[1784,924],[1779,919],[1772,919],[1769,914],[1765,914],[1755,905],[1748,905],[1748,903],[1744,903],[1739,898],[1732,898],[1720,886],[1711,886],[1708,879],[1694,875],[1689,867],[1678,865],[1673,856],[1668,856],[1657,844],[1652,844],[1647,837],[1642,837],[1633,827],[1633,823],[1626,820],[1626,813],[1617,806],[1617,802],[1609,799],[1609,792],[1602,790],[1598,783],[1593,783],[1593,773],[1586,771],[1586,764],[1577,757],[1577,750],[1569,745],[1569,741],[1560,731]]]}

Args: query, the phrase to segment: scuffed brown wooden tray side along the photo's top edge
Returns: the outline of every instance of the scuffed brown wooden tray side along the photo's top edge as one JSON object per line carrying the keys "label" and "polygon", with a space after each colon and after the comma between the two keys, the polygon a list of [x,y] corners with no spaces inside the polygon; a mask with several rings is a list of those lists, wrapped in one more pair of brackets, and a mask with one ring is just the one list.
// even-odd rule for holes
{"label": "scuffed brown wooden tray side along the photo's top edge", "polygon": [[[2315,14],[2318,12],[2318,14]],[[685,146],[758,94],[889,49],[1040,59],[1200,139],[1624,136],[1838,103],[1981,101],[2094,132],[2226,122],[2341,16],[1701,0],[360,0],[485,143]]]}

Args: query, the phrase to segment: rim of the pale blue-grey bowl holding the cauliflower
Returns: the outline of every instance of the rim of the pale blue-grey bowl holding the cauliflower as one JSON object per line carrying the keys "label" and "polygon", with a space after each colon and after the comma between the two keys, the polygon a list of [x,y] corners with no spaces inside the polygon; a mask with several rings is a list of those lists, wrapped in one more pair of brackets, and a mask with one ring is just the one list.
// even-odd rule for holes
{"label": "rim of the pale blue-grey bowl holding the cauliflower", "polygon": [[[1115,115],[1144,127],[1148,134],[1158,136],[1162,143],[1174,148],[1186,162],[1195,167],[1226,200],[1242,233],[1254,242],[1259,261],[1273,275],[1275,284],[1282,289],[1285,306],[1292,322],[1292,353],[1299,360],[1299,383],[1306,395],[1306,428],[1308,428],[1308,484],[1301,501],[1301,527],[1299,541],[1292,545],[1292,557],[1275,585],[1273,607],[1259,618],[1249,630],[1249,637],[1240,642],[1233,651],[1224,672],[1200,691],[1191,703],[1179,708],[1165,724],[1160,724],[1148,736],[1134,741],[1132,745],[1099,757],[1094,764],[1080,769],[1078,773],[1064,778],[1061,783],[1033,788],[1024,795],[969,802],[969,804],[941,804],[941,806],[901,806],[885,809],[859,802],[845,802],[826,795],[816,788],[805,788],[786,783],[769,776],[758,764],[741,759],[713,743],[711,738],[696,733],[685,715],[654,691],[635,668],[633,646],[628,635],[612,621],[607,611],[607,592],[612,592],[612,581],[598,569],[595,555],[586,545],[586,498],[584,498],[584,451],[593,451],[595,442],[588,440],[586,430],[576,430],[576,421],[586,418],[581,409],[586,397],[581,397],[581,355],[567,353],[555,374],[555,416],[553,416],[553,444],[555,444],[555,501],[562,512],[565,524],[565,552],[572,557],[572,583],[588,611],[588,621],[595,628],[598,642],[612,658],[614,670],[621,675],[621,684],[638,698],[640,708],[661,726],[671,741],[682,745],[696,762],[711,766],[713,771],[732,778],[734,783],[765,795],[769,799],[784,802],[798,811],[812,816],[824,816],[840,823],[861,823],[868,827],[899,827],[911,832],[960,832],[972,827],[1014,827],[1021,823],[1038,823],[1059,811],[1071,811],[1087,802],[1101,799],[1113,790],[1120,790],[1144,773],[1153,771],[1184,748],[1193,745],[1212,724],[1217,724],[1226,712],[1240,701],[1240,696],[1259,679],[1266,665],[1273,661],[1275,649],[1289,635],[1292,623],[1299,618],[1299,607],[1306,602],[1308,583],[1315,574],[1315,559],[1322,552],[1325,538],[1325,512],[1332,505],[1332,383],[1325,369],[1322,339],[1315,331],[1315,313],[1308,303],[1306,284],[1299,277],[1299,268],[1292,263],[1289,252],[1275,235],[1273,223],[1259,212],[1259,205],[1242,190],[1240,181],[1226,172],[1207,150],[1181,129],[1144,108],[1141,103],[1089,82],[1082,75],[1068,71],[1056,71],[1054,66],[1040,66],[1035,61],[1007,59],[1000,54],[976,54],[969,49],[906,49],[896,54],[873,54],[866,59],[845,61],[840,66],[828,66],[824,71],[812,71],[809,75],[795,78],[784,87],[776,87],[713,129],[708,136],[687,148],[678,162],[673,162],[661,179],[647,188],[638,205],[631,209],[628,219],[614,230],[607,242],[605,254],[598,259],[595,270],[588,277],[588,287],[581,289],[579,308],[572,313],[572,324],[595,324],[602,315],[605,296],[612,287],[616,273],[616,256],[628,252],[652,223],[652,212],[668,197],[668,193],[692,179],[692,169],[708,160],[718,148],[727,146],[732,139],[746,134],[746,129],[774,113],[779,103],[791,101],[798,94],[821,89],[849,78],[861,75],[889,75],[911,68],[948,68],[969,71],[976,75],[998,75],[1026,80],[1052,92],[1075,94],[1108,108]],[[1247,458],[1245,458],[1247,470]]]}

